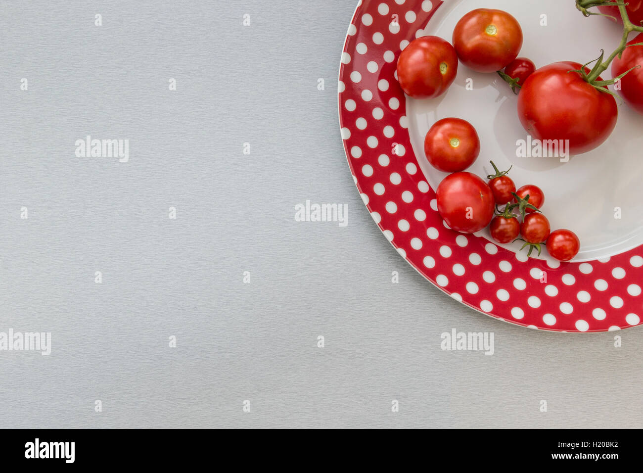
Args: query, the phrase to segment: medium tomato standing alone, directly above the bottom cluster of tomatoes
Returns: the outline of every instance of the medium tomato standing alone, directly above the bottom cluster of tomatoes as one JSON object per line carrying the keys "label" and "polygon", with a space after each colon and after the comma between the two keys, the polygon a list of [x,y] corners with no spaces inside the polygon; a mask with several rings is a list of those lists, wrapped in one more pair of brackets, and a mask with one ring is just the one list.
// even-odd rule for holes
{"label": "medium tomato standing alone, directly above the bottom cluster of tomatoes", "polygon": [[464,171],[480,154],[480,138],[466,120],[442,118],[426,134],[424,153],[438,171]]}

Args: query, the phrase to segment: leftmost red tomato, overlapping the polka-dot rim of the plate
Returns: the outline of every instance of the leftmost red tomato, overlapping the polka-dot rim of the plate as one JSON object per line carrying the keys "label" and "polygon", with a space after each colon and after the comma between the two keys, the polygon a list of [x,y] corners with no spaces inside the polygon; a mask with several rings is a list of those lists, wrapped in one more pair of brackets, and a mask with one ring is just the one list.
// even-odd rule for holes
{"label": "leftmost red tomato, overlapping the polka-dot rim of the plate", "polygon": [[455,49],[437,36],[414,39],[397,60],[397,80],[404,93],[413,98],[442,95],[457,72]]}

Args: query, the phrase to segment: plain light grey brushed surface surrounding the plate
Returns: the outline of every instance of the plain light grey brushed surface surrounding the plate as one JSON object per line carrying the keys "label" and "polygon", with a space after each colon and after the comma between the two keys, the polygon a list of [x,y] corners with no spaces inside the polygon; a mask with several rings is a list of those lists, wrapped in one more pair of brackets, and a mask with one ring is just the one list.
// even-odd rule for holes
{"label": "plain light grey brushed surface surrounding the plate", "polygon": [[[640,426],[640,330],[498,322],[377,230],[337,118],[354,1],[0,5],[0,331],[52,334],[0,352],[0,427]],[[87,134],[129,163],[77,158]],[[306,199],[349,225],[294,221]]]}

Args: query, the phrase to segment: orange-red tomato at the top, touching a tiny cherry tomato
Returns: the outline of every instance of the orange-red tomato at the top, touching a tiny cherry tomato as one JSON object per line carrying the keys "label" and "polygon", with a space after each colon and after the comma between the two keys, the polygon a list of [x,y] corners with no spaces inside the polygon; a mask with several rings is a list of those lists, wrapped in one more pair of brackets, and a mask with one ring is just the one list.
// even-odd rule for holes
{"label": "orange-red tomato at the top, touching a tiny cherry tomato", "polygon": [[462,64],[476,72],[500,71],[522,47],[520,24],[502,10],[478,8],[458,21],[453,46]]}

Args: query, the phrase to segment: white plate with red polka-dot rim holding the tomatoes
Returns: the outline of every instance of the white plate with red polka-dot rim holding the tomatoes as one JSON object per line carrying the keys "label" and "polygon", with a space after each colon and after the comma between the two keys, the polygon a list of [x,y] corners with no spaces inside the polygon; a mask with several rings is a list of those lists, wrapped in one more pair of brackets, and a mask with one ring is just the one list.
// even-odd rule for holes
{"label": "white plate with red polka-dot rim holding the tomatoes", "polygon": [[[497,75],[460,64],[449,91],[433,100],[407,98],[397,83],[397,57],[410,41],[423,35],[450,41],[458,19],[483,7],[518,19],[525,35],[520,55],[537,66],[588,62],[619,42],[617,26],[601,17],[585,19],[573,2],[360,1],[341,54],[338,106],[361,198],[413,268],[477,311],[550,331],[637,326],[643,313],[643,199],[633,196],[643,175],[643,117],[620,106],[617,129],[595,151],[569,162],[527,158],[518,153],[518,140],[527,134],[518,122],[516,97]],[[583,44],[567,40],[583,32]],[[518,243],[491,241],[487,230],[464,235],[446,226],[434,191],[446,174],[426,162],[422,143],[429,127],[447,116],[468,120],[480,134],[482,151],[467,171],[484,177],[493,159],[500,169],[512,165],[516,185],[545,190],[543,211],[552,229],[570,228],[581,238],[574,261],[559,263],[546,252],[527,257]]]}

